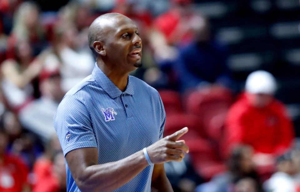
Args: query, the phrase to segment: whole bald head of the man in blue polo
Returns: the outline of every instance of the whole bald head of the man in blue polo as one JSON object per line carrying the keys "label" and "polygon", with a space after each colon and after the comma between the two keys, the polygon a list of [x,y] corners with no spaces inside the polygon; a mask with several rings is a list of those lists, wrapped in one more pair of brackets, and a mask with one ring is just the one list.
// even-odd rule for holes
{"label": "whole bald head of the man in blue polo", "polygon": [[122,14],[107,13],[96,18],[88,31],[88,43],[98,65],[102,62],[129,72],[142,65],[138,28]]}

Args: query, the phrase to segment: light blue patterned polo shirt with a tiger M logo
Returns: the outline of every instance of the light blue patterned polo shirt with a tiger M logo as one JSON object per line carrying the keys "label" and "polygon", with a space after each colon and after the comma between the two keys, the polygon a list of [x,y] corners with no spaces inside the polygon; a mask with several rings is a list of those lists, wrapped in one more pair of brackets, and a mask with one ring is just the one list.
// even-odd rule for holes
{"label": "light blue patterned polo shirt with a tiger M logo", "polygon": [[[166,114],[158,92],[128,76],[122,92],[100,70],[73,87],[54,117],[64,155],[83,147],[98,148],[98,164],[124,159],[163,137]],[[66,164],[67,191],[80,191]],[[115,191],[151,191],[153,165]]]}

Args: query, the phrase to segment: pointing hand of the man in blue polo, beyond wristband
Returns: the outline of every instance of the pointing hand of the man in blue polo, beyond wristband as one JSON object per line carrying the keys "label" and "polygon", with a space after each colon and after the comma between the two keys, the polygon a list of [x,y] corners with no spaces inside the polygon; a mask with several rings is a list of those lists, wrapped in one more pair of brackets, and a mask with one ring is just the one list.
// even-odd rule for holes
{"label": "pointing hand of the man in blue polo, beyond wristband", "polygon": [[151,162],[161,164],[168,161],[182,161],[184,152],[188,153],[188,146],[184,140],[178,141],[178,139],[187,131],[188,129],[185,127],[147,147]]}

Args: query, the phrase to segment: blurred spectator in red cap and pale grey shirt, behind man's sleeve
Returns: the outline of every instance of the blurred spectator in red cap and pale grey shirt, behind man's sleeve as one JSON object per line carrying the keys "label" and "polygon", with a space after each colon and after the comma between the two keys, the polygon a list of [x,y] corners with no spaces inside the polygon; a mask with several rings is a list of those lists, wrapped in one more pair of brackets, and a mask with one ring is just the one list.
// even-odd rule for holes
{"label": "blurred spectator in red cap and pale grey shirt, behind man's sleeve", "polygon": [[41,97],[32,101],[19,112],[24,128],[34,132],[47,142],[55,133],[53,117],[65,92],[61,88],[58,69],[44,69],[40,74]]}

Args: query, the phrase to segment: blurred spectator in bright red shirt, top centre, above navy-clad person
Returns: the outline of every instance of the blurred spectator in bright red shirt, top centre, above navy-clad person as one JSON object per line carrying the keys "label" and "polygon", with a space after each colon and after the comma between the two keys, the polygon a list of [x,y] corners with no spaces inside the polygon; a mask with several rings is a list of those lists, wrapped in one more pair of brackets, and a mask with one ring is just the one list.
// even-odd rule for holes
{"label": "blurred spectator in bright red shirt, top centre, above navy-clad person", "polygon": [[173,60],[178,52],[176,46],[192,40],[192,19],[196,14],[192,11],[191,0],[172,0],[168,12],[159,15],[153,21],[150,33],[151,47],[158,64],[165,60]]}

